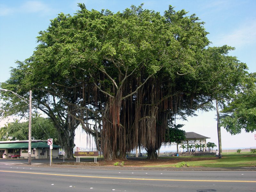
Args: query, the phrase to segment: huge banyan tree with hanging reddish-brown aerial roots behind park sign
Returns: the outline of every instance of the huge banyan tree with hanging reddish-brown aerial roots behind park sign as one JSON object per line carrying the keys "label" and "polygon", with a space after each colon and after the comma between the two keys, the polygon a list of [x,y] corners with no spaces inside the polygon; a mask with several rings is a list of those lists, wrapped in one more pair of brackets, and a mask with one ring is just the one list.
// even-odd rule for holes
{"label": "huge banyan tree with hanging reddish-brown aerial roots behind park sign", "polygon": [[142,5],[117,13],[79,7],[39,33],[26,60],[29,88],[54,89],[106,160],[138,147],[156,158],[168,120],[211,101],[219,82],[208,69],[225,70],[210,62],[216,55],[209,53],[204,23],[172,6],[164,15]]}

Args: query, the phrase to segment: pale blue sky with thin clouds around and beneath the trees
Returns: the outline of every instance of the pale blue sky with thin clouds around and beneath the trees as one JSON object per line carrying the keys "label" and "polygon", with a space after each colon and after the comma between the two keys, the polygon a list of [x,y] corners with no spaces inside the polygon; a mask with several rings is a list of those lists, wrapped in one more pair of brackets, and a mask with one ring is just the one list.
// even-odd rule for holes
{"label": "pale blue sky with thin clouds around and beneath the trees", "polygon": [[[37,46],[39,31],[46,30],[50,20],[60,12],[73,15],[84,3],[88,10],[109,9],[122,12],[131,5],[144,3],[143,8],[155,10],[162,15],[168,6],[175,11],[186,10],[188,16],[196,14],[205,22],[210,34],[211,46],[227,44],[236,49],[229,54],[247,64],[249,72],[256,72],[256,1],[255,0],[0,0],[0,82],[6,81],[15,61],[29,58]],[[216,112],[197,112],[197,117],[189,117],[183,129],[210,137],[210,142],[218,146]],[[6,123],[0,120],[0,126]],[[256,147],[253,133],[242,132],[232,136],[221,129],[222,148]],[[76,132],[77,147],[86,147],[86,136]],[[169,150],[163,148],[162,150]]]}

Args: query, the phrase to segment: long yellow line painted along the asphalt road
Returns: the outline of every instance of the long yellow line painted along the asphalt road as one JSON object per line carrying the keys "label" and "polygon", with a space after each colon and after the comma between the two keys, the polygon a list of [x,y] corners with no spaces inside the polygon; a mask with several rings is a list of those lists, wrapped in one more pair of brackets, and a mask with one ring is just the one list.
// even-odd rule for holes
{"label": "long yellow line painted along the asphalt road", "polygon": [[84,176],[84,175],[64,175],[64,174],[51,174],[51,173],[35,173],[35,172],[19,172],[19,171],[0,171],[10,173],[25,173],[25,174],[37,174],[37,175],[53,175],[53,176],[65,176],[65,177],[85,177],[85,178],[100,178],[100,179],[125,179],[125,180],[150,180],[150,181],[194,181],[194,182],[245,182],[256,183],[256,181],[246,180],[183,180],[183,179],[141,179],[141,178],[122,178],[122,177],[99,177],[99,176]]}

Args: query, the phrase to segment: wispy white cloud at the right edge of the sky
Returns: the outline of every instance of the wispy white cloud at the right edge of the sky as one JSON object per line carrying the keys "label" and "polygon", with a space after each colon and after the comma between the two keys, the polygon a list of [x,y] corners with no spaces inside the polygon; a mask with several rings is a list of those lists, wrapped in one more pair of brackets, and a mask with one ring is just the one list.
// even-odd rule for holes
{"label": "wispy white cloud at the right edge of the sky", "polygon": [[220,46],[227,44],[236,48],[242,48],[256,43],[256,21],[247,21],[228,34],[220,34],[212,40],[213,44]]}

